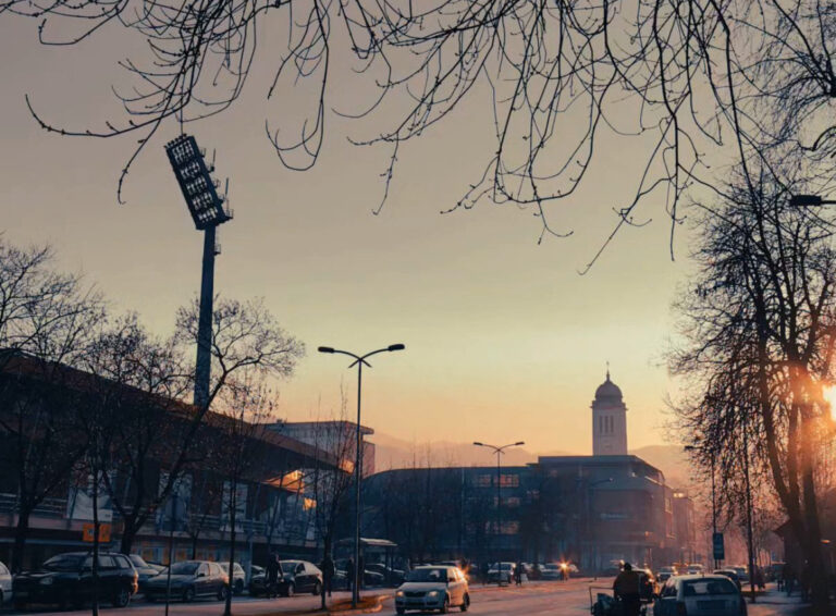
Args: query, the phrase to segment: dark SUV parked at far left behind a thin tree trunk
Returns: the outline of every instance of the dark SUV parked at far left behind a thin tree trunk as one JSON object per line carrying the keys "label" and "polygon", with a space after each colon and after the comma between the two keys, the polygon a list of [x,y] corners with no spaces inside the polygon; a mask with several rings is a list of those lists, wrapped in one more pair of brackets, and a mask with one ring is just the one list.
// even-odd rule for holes
{"label": "dark SUV parked at far left behind a thin tree trunk", "polygon": [[[124,554],[103,552],[98,559],[98,596],[114,607],[126,607],[136,593],[138,576]],[[13,597],[17,609],[32,603],[57,604],[62,609],[82,606],[93,599],[93,555],[70,552],[53,556],[37,571],[14,577]]]}

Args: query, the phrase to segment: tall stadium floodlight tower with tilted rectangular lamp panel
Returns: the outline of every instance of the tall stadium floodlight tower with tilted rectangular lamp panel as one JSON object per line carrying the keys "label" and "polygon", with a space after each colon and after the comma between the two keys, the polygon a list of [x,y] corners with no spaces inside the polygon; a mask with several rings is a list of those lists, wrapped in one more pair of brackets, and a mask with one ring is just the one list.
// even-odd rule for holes
{"label": "tall stadium floodlight tower with tilted rectangular lamp panel", "polygon": [[216,229],[232,219],[224,208],[225,195],[218,195],[218,181],[211,173],[214,163],[206,165],[206,151],[197,147],[190,135],[181,135],[165,145],[165,153],[174,170],[195,227],[204,232],[204,267],[200,279],[200,317],[197,327],[197,364],[195,365],[196,406],[209,402],[211,375],[212,298],[214,296],[214,257],[220,254],[216,244]]}

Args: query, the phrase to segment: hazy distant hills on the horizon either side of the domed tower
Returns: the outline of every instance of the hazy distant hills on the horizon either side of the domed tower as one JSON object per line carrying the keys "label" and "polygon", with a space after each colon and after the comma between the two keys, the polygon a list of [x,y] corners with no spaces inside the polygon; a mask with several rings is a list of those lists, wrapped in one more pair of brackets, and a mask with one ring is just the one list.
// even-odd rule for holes
{"label": "hazy distant hills on the horizon either side of the domed tower", "polygon": [[[395,468],[446,467],[446,466],[493,466],[496,457],[483,447],[471,443],[435,441],[432,443],[410,442],[389,434],[376,433],[371,438],[376,444],[374,466],[378,471]],[[681,447],[676,445],[650,445],[630,451],[660,469],[666,482],[675,488],[686,488],[690,483],[688,458]],[[525,447],[507,449],[502,458],[504,466],[524,466],[537,461],[540,456],[573,455],[566,452],[531,452]]]}

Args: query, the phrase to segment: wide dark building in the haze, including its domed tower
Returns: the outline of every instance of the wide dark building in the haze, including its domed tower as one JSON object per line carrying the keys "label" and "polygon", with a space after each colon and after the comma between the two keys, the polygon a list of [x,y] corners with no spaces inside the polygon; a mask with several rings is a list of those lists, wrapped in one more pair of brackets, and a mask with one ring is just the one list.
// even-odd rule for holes
{"label": "wide dark building in the haze, including its domed tower", "polygon": [[606,375],[592,403],[591,456],[522,467],[409,468],[364,485],[364,529],[414,562],[568,559],[588,571],[619,560],[693,562],[693,503],[627,454],[626,406]]}

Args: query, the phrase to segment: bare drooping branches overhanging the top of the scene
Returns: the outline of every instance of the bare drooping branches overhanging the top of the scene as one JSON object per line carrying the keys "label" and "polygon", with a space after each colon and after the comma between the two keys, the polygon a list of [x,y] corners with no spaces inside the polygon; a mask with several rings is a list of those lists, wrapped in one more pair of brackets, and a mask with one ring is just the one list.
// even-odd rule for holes
{"label": "bare drooping branches overhanging the top of the scene", "polygon": [[[263,58],[276,58],[267,99],[284,103],[298,88],[308,104],[300,120],[294,112],[266,121],[267,137],[288,168],[311,167],[333,106],[334,53],[353,60],[368,93],[366,104],[334,113],[382,119],[353,140],[391,152],[386,194],[405,143],[465,101],[489,98],[496,147],[452,209],[512,201],[540,217],[543,234],[570,233],[551,222],[546,205],[576,198],[605,138],[626,141],[643,162],[635,190],[614,204],[613,234],[649,222],[653,212],[638,206],[652,197],[673,236],[689,186],[712,183],[728,160],[748,174],[747,161],[775,145],[791,143],[833,175],[836,15],[804,0],[3,0],[0,12],[37,20],[45,45],[74,45],[107,27],[147,40],[145,56],[122,62],[136,81],[116,95],[126,118],[59,127],[27,98],[48,131],[137,134],[120,199],[131,162],[168,119],[223,112]],[[257,44],[261,24],[286,33],[278,49]]]}

